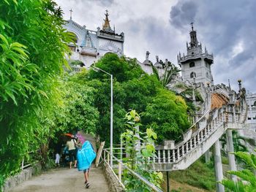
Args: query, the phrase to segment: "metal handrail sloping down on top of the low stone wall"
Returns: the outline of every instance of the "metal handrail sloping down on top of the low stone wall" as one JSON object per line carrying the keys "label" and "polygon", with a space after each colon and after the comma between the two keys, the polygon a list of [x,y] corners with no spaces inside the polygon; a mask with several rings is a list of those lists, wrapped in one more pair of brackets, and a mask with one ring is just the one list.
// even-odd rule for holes
{"label": "metal handrail sloping down on top of the low stone wall", "polygon": [[[120,148],[119,148],[120,149]],[[104,155],[104,162],[105,164],[108,164],[110,170],[113,172],[113,174],[115,175],[116,179],[118,179],[118,183],[120,183],[120,185],[125,189],[124,184],[121,182],[121,172],[122,172],[122,167],[124,167],[125,169],[127,169],[131,174],[133,174],[135,177],[137,177],[139,180],[141,180],[143,183],[145,183],[146,185],[148,185],[148,187],[150,187],[152,190],[157,191],[157,192],[162,192],[162,190],[160,188],[158,188],[156,185],[150,183],[148,180],[146,180],[146,178],[140,176],[140,174],[134,172],[132,169],[129,169],[128,166],[126,166],[125,164],[123,164],[123,162],[121,160],[119,160],[118,158],[116,158],[115,156],[113,156],[113,159],[115,161],[118,162],[118,176],[116,175],[116,172],[113,171],[113,168],[110,167],[109,164],[109,155],[111,155],[109,153],[109,151],[107,149],[104,150],[104,154],[108,153],[108,160],[105,159],[106,155]]]}

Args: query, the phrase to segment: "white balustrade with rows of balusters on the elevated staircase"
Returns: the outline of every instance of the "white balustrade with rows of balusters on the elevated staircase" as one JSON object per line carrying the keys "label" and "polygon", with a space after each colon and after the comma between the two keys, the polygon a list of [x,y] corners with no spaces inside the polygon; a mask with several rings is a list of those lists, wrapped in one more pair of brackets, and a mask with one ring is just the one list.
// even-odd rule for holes
{"label": "white balustrade with rows of balusters on the elevated staircase", "polygon": [[[205,120],[206,115],[210,116],[206,126],[200,127],[200,123]],[[194,127],[197,131],[192,134],[190,139],[187,139],[185,142],[179,142],[169,149],[165,149],[165,147],[157,149],[156,156],[154,158],[148,158],[148,161],[151,161],[152,164],[178,164],[179,161],[191,154],[193,150],[200,147],[202,142],[205,142],[208,137],[211,137],[220,127],[222,127],[222,134],[224,134],[227,128],[241,128],[240,124],[244,123],[244,116],[246,116],[246,107],[243,108],[241,113],[227,112],[224,111],[223,108],[206,112],[203,117],[192,125],[191,128]],[[230,126],[228,126],[229,124]],[[218,137],[222,134],[218,134]],[[214,144],[214,139],[212,144]],[[209,147],[211,147],[211,145],[209,145]]]}

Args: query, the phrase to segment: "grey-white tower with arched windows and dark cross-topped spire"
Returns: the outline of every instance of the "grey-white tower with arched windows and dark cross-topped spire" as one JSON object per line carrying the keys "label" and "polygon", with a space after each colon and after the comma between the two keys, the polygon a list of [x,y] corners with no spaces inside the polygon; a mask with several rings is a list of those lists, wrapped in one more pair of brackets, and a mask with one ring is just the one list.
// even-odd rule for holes
{"label": "grey-white tower with arched windows and dark cross-topped spire", "polygon": [[208,54],[206,47],[203,52],[201,43],[197,41],[197,31],[194,30],[193,23],[191,23],[191,28],[190,42],[187,43],[187,55],[181,56],[181,53],[177,55],[182,79],[196,83],[203,82],[205,85],[206,82],[213,84],[211,64],[214,63],[214,55]]}

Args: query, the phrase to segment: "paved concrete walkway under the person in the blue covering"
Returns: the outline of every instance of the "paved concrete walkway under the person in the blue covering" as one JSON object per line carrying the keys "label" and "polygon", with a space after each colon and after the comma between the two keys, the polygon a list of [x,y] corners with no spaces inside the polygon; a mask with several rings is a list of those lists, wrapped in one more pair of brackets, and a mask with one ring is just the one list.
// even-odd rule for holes
{"label": "paved concrete walkway under the person in the blue covering", "polygon": [[31,180],[12,188],[11,192],[109,192],[108,183],[100,167],[94,168],[94,165],[91,167],[89,183],[90,188],[85,188],[83,172],[78,172],[78,169],[59,168],[32,177]]}

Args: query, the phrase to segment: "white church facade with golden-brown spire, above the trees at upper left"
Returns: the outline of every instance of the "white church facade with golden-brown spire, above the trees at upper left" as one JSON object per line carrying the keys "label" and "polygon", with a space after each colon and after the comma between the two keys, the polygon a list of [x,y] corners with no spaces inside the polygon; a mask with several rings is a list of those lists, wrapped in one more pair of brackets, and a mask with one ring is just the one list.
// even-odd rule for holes
{"label": "white church facade with golden-brown spire, above the trees at upper left", "polygon": [[70,60],[82,61],[86,68],[99,60],[106,53],[124,54],[124,33],[116,34],[115,28],[110,27],[108,10],[105,13],[105,20],[102,28],[97,31],[89,30],[86,26],[80,26],[70,17],[66,21],[64,28],[73,34],[75,44],[70,42],[72,50]]}

